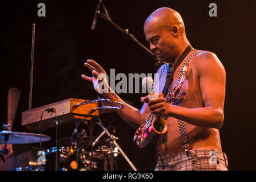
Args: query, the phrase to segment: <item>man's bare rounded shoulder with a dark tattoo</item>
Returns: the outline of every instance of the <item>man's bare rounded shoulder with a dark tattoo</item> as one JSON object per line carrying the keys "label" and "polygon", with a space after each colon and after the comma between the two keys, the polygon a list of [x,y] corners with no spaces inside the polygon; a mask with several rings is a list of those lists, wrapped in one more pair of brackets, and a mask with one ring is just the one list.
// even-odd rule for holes
{"label": "man's bare rounded shoulder with a dark tattoo", "polygon": [[197,56],[194,57],[193,61],[194,67],[197,69],[198,75],[210,72],[222,72],[224,75],[225,68],[223,64],[218,59],[215,53],[210,51],[200,51]]}

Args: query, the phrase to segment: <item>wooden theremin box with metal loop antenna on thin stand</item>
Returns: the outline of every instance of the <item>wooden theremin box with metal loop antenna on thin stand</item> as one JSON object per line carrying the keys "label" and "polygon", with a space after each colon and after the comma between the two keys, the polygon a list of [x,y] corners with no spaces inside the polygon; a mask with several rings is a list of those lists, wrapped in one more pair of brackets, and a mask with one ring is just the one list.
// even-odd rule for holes
{"label": "wooden theremin box with metal loop antenna on thin stand", "polygon": [[[55,127],[56,127],[56,148],[57,148],[55,170],[57,171],[59,170],[59,125],[61,125],[63,121],[61,121],[61,119],[55,120],[56,117],[60,118],[62,116],[65,118],[66,115],[71,115],[74,118],[76,118],[75,116],[78,115],[77,118],[82,117],[83,119],[86,120],[86,118],[88,119],[88,117],[90,117],[91,119],[92,117],[97,116],[98,110],[101,110],[101,109],[122,109],[123,108],[123,104],[121,102],[106,100],[103,98],[93,100],[93,101],[86,101],[86,102],[83,102],[83,101],[85,100],[69,99],[63,102],[62,101],[56,102],[54,104],[31,109],[22,113],[22,125],[31,126],[31,124],[33,124],[33,126],[38,127],[38,124],[39,124],[38,128],[40,129],[40,131],[41,131],[41,126],[43,126],[44,124],[45,124],[45,129],[49,127],[53,127],[53,121],[54,121]],[[101,101],[112,102],[115,104],[119,104],[120,106],[98,107],[98,102],[101,102]],[[94,104],[93,102],[97,104]],[[66,109],[63,109],[63,107],[65,107]],[[45,114],[46,116],[44,115],[45,118],[42,118],[42,110],[46,111],[49,108],[54,110],[55,116],[52,114],[53,112],[48,112],[48,114]],[[39,113],[41,113],[41,118],[38,117]],[[70,119],[67,119],[67,120],[70,120]],[[92,141],[92,125],[90,128],[90,131],[91,131],[90,141]],[[91,152],[92,152],[92,147],[91,147]],[[92,162],[92,158],[91,158],[91,162]]]}

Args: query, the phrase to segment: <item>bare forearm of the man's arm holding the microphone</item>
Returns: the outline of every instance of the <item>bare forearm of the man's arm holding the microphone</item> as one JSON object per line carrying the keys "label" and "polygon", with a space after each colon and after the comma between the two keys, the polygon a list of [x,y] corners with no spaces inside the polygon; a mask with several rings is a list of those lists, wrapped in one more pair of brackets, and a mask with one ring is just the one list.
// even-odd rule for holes
{"label": "bare forearm of the man's arm holding the microphone", "polygon": [[223,111],[213,107],[186,108],[169,105],[170,117],[181,119],[191,125],[220,129],[224,120]]}

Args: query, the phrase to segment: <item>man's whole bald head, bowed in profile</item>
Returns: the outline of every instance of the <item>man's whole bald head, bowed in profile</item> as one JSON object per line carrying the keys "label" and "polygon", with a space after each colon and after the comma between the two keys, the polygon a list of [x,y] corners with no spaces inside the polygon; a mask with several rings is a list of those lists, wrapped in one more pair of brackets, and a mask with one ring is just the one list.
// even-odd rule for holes
{"label": "man's whole bald head, bowed in profile", "polygon": [[181,15],[173,9],[155,10],[145,21],[144,33],[158,59],[175,61],[189,45]]}

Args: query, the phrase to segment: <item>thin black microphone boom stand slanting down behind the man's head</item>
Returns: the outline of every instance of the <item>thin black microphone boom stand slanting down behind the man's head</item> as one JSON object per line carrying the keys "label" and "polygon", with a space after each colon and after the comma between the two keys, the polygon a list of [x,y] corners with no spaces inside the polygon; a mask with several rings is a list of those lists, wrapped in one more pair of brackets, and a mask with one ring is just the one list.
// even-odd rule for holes
{"label": "thin black microphone boom stand slanting down behind the man's head", "polygon": [[127,28],[125,28],[125,30],[123,30],[121,27],[118,26],[118,24],[116,24],[115,22],[113,22],[113,20],[111,20],[109,14],[107,13],[106,7],[102,1],[102,6],[105,10],[105,13],[101,13],[100,11],[97,11],[97,13],[101,16],[101,18],[103,18],[104,20],[107,20],[109,23],[111,23],[118,31],[122,32],[123,35],[127,36],[128,38],[130,38],[131,40],[133,40],[133,42],[135,42],[138,46],[140,46],[143,51],[145,51],[149,56],[153,57],[153,59],[156,61],[155,63],[155,67],[160,67],[163,64],[166,64],[165,61],[161,61],[159,59],[157,59],[157,57],[155,57],[154,53],[151,52],[148,48],[146,48],[142,43],[140,43],[134,35],[129,33],[129,30]]}

